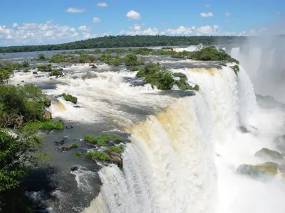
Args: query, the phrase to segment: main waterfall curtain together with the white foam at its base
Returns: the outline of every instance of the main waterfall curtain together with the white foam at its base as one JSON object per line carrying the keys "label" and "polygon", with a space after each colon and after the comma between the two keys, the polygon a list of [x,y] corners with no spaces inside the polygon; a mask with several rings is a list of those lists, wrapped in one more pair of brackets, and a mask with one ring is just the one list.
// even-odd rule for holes
{"label": "main waterfall curtain together with the white foam at its base", "polygon": [[[254,158],[260,148],[276,149],[283,112],[257,107],[243,69],[238,77],[229,67],[172,71],[185,73],[200,91],[127,130],[132,143],[123,172],[100,170],[103,187],[84,212],[283,212],[283,180],[235,173],[240,164],[264,163]],[[257,130],[241,133],[240,124]]]}

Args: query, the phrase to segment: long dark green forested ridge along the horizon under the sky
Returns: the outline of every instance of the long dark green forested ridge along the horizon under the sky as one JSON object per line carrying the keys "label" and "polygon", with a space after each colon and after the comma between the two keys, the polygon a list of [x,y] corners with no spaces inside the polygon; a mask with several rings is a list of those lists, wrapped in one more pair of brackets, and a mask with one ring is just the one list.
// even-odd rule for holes
{"label": "long dark green forested ridge along the horizon under the sky", "polygon": [[90,38],[58,45],[25,45],[0,48],[0,53],[33,52],[48,50],[78,50],[91,48],[129,48],[174,45],[229,45],[242,43],[242,36],[168,36],[168,35],[118,35]]}

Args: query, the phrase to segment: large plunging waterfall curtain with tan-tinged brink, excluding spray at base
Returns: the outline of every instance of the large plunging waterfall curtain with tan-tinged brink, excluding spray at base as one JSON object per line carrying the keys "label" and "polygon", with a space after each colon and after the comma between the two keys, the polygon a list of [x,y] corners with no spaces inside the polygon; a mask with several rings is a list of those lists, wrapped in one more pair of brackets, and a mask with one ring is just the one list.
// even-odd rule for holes
{"label": "large plunging waterfall curtain with tan-tinged brink, excluding spray at base", "polygon": [[84,212],[208,213],[227,197],[217,158],[227,155],[240,117],[257,109],[252,84],[242,69],[238,77],[229,67],[172,71],[185,73],[199,92],[127,130],[123,172],[115,165],[100,170],[100,194]]}

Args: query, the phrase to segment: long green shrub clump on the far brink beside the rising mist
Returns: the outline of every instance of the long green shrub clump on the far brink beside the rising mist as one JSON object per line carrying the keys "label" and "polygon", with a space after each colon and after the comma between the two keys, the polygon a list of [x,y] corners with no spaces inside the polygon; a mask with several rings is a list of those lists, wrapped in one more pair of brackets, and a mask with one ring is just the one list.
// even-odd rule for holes
{"label": "long green shrub clump on the far brink beside the rising mist", "polygon": [[198,48],[193,52],[183,51],[173,55],[173,58],[189,58],[192,60],[227,60],[229,62],[236,62],[239,64],[238,60],[232,58],[226,51],[215,48],[214,46],[206,48]]}

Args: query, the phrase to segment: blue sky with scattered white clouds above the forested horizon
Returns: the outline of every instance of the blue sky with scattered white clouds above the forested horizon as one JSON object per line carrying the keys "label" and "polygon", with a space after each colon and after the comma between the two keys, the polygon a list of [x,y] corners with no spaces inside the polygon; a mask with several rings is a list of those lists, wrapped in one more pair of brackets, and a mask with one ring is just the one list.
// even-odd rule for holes
{"label": "blue sky with scattered white clouds above the forested horizon", "polygon": [[0,46],[103,35],[256,35],[285,17],[284,0],[1,1]]}

